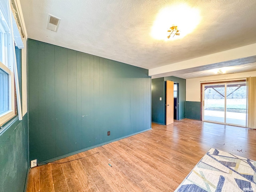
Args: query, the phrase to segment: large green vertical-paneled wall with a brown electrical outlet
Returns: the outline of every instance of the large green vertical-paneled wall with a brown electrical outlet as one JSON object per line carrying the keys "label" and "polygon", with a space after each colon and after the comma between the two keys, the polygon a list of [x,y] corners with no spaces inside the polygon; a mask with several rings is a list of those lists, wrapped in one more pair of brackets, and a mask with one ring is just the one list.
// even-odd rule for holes
{"label": "large green vertical-paneled wall with a brown electrical outlet", "polygon": [[150,129],[150,93],[146,69],[28,40],[30,160]]}

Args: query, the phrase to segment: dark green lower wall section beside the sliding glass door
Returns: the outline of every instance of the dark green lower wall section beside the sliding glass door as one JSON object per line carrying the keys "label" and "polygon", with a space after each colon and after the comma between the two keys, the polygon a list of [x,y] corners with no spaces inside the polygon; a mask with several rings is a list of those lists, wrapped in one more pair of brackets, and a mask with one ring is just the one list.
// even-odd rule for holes
{"label": "dark green lower wall section beside the sliding glass door", "polygon": [[186,118],[200,120],[201,102],[186,101]]}

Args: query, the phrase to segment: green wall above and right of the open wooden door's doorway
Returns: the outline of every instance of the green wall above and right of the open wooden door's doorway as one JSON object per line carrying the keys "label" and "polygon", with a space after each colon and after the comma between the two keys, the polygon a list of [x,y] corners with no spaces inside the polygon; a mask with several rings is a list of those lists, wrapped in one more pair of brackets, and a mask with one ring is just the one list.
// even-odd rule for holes
{"label": "green wall above and right of the open wooden door's doorway", "polygon": [[175,76],[165,77],[164,81],[173,81],[179,83],[179,120],[185,118],[186,114],[186,79],[178,78]]}

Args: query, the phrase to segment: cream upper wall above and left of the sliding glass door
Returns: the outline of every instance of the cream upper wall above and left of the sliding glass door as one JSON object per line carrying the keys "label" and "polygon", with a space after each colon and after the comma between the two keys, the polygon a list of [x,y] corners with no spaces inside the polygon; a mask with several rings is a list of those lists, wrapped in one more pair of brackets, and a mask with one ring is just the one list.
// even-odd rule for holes
{"label": "cream upper wall above and left of the sliding glass door", "polygon": [[255,77],[256,71],[244,72],[244,73],[234,73],[210,77],[193,78],[186,80],[186,101],[196,101],[201,100],[201,83],[205,82],[221,82],[235,79],[244,79],[247,77]]}

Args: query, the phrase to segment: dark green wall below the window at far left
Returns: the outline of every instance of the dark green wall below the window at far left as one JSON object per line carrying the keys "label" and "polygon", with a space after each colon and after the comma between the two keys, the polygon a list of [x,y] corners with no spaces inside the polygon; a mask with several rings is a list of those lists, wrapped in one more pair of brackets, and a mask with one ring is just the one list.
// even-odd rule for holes
{"label": "dark green wall below the window at far left", "polygon": [[27,115],[0,133],[0,191],[22,192],[28,171]]}

